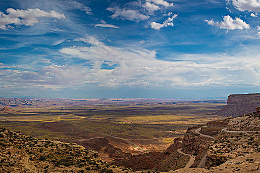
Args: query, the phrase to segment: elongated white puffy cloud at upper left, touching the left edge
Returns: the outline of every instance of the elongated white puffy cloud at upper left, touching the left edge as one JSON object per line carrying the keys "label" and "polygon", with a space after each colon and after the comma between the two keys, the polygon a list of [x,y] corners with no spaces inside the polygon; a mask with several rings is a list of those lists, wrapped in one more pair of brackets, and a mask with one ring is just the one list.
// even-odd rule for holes
{"label": "elongated white puffy cloud at upper left, touching the left edge", "polygon": [[6,13],[0,11],[0,29],[3,30],[11,28],[10,24],[32,26],[39,23],[40,18],[65,19],[64,14],[54,10],[46,12],[38,8],[27,10],[7,8]]}

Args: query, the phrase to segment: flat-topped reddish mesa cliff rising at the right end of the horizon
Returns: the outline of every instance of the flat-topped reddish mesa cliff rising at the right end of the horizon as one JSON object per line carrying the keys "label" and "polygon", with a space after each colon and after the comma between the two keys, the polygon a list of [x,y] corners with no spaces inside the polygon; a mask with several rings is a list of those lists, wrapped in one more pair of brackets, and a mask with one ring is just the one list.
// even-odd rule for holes
{"label": "flat-topped reddish mesa cliff rising at the right end of the horizon", "polygon": [[222,116],[236,117],[248,112],[256,111],[260,106],[260,93],[256,94],[231,94],[228,96],[227,105],[217,111],[216,114]]}

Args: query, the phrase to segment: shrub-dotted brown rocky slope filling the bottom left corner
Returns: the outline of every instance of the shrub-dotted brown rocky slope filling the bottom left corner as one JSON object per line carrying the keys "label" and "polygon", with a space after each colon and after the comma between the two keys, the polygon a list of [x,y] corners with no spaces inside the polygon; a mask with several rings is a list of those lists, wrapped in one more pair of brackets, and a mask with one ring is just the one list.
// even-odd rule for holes
{"label": "shrub-dotted brown rocky slope filling the bottom left corner", "polygon": [[0,173],[131,173],[75,143],[34,139],[0,127]]}

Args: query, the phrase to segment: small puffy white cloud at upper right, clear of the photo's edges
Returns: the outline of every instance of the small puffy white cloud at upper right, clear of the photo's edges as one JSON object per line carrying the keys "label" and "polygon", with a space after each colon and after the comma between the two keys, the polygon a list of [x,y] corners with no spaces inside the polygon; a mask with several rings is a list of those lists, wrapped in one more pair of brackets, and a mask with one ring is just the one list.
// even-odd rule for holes
{"label": "small puffy white cloud at upper right, clear of the photo's edges", "polygon": [[223,17],[223,21],[214,22],[213,19],[205,20],[209,25],[217,26],[219,28],[234,30],[234,29],[249,29],[249,24],[244,22],[243,20],[236,17],[236,19],[232,19],[229,15]]}

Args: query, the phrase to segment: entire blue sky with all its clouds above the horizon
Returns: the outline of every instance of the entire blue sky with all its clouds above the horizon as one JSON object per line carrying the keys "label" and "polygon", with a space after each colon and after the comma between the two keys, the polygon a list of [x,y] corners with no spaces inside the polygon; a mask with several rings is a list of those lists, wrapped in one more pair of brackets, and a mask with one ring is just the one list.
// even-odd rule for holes
{"label": "entire blue sky with all its clouds above the horizon", "polygon": [[260,89],[258,0],[1,0],[1,97]]}

